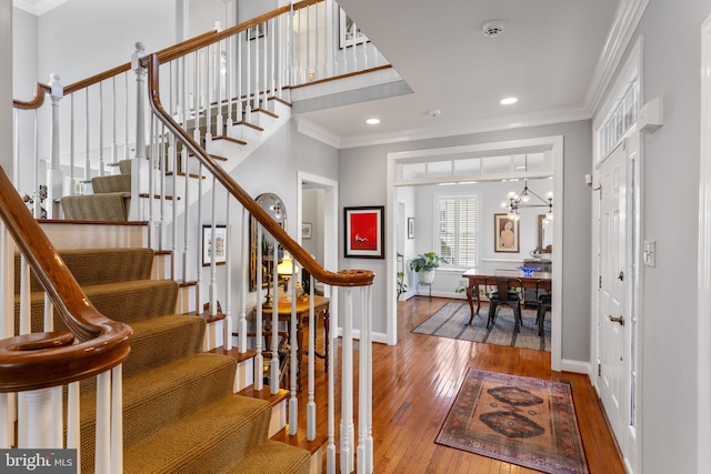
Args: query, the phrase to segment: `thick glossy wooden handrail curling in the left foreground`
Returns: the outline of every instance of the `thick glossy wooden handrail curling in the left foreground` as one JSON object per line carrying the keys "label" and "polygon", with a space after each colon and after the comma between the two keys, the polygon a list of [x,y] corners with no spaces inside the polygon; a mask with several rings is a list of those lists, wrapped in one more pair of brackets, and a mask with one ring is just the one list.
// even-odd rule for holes
{"label": "thick glossy wooden handrail curling in the left foreground", "polygon": [[0,218],[71,331],[1,340],[0,393],[63,385],[122,363],[130,352],[131,327],[89,302],[1,167]]}

